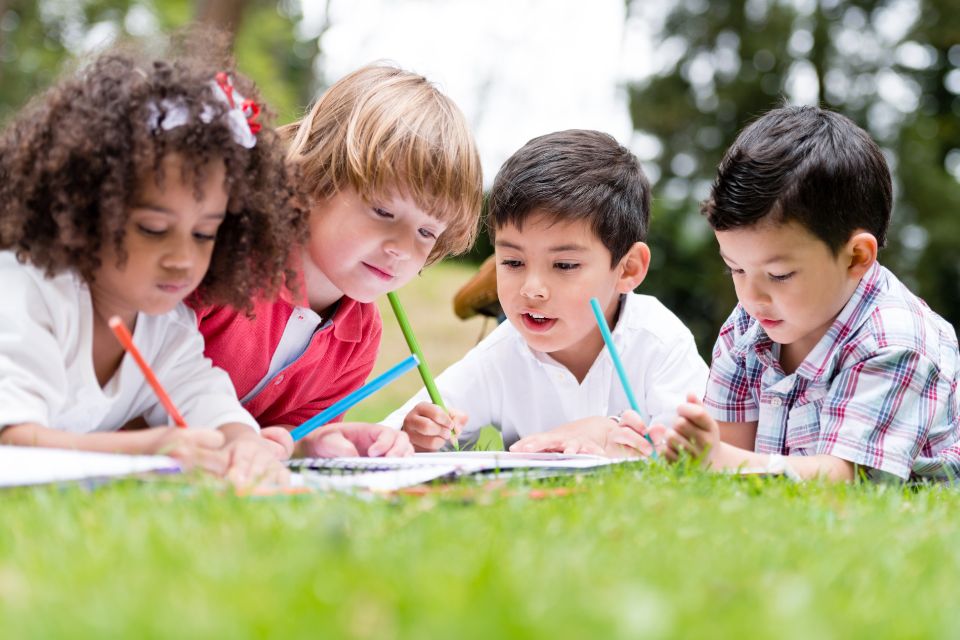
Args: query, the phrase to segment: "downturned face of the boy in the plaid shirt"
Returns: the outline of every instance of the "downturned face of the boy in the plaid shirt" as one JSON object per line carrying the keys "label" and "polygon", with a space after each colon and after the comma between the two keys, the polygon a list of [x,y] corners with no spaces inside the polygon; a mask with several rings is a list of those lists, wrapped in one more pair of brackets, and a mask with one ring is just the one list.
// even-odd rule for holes
{"label": "downturned face of the boy in the plaid shirt", "polygon": [[[798,365],[853,295],[863,269],[851,267],[851,240],[833,255],[803,225],[761,223],[717,231],[720,256],[740,304]],[[869,266],[869,265],[868,265]]]}

